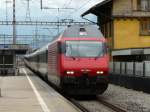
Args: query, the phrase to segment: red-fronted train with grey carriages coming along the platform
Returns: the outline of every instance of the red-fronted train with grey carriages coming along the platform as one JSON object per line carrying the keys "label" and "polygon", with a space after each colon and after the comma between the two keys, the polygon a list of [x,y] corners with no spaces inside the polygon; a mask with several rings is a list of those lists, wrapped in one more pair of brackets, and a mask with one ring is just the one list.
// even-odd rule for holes
{"label": "red-fronted train with grey carriages coming along the platform", "polygon": [[108,87],[107,41],[93,25],[68,27],[48,45],[25,55],[24,61],[68,94],[97,95]]}

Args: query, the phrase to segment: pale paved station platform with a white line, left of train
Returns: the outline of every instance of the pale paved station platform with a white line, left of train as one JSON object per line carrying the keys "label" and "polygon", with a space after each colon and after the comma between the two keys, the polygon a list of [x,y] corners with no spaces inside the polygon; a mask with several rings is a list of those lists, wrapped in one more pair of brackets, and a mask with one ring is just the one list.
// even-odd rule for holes
{"label": "pale paved station platform with a white line, left of train", "polygon": [[80,112],[26,68],[20,76],[0,77],[0,112]]}

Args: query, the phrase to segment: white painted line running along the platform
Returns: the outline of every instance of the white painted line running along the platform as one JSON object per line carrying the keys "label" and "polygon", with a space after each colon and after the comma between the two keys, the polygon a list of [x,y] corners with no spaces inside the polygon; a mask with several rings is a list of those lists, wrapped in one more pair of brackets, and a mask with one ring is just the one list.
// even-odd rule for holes
{"label": "white painted line running along the platform", "polygon": [[41,105],[42,109],[44,112],[50,112],[50,110],[48,109],[46,103],[44,102],[44,100],[42,99],[41,95],[39,94],[39,92],[37,91],[36,87],[34,86],[33,82],[31,81],[29,75],[27,74],[27,72],[25,71],[25,69],[23,68],[24,73],[26,74],[26,77],[39,101],[39,104]]}

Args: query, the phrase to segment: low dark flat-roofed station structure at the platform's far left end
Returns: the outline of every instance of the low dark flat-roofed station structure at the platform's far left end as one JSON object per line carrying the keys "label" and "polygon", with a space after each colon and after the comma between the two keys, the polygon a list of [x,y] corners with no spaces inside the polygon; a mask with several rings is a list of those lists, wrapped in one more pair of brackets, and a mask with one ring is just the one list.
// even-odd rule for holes
{"label": "low dark flat-roofed station structure at the platform's far left end", "polygon": [[29,49],[26,44],[0,44],[0,75],[17,75],[22,63],[21,56]]}

